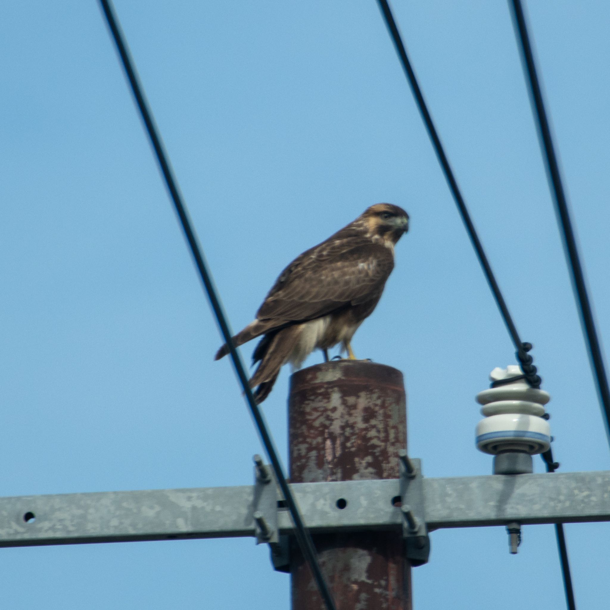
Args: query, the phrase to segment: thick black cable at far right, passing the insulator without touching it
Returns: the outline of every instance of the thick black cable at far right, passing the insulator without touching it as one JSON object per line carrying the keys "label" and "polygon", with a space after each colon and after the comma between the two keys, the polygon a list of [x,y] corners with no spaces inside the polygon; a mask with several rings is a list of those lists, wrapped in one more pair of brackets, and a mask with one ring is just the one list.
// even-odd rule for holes
{"label": "thick black cable at far right, passing the insulator without touching it", "polygon": [[595,329],[593,311],[589,301],[589,295],[587,294],[587,286],[584,281],[583,267],[578,254],[578,246],[576,246],[576,237],[572,228],[572,221],[570,220],[570,211],[568,209],[568,203],[561,180],[557,155],[555,154],[551,128],[548,123],[544,98],[542,97],[542,88],[540,87],[536,70],[536,62],[534,62],[534,53],[529,41],[528,28],[520,0],[511,0],[509,1],[509,4],[512,7],[515,34],[520,41],[523,67],[528,76],[526,80],[528,81],[529,93],[531,94],[532,110],[537,118],[540,148],[542,148],[542,152],[544,153],[543,156],[547,168],[548,182],[551,193],[553,194],[557,220],[564,240],[565,256],[567,258],[568,267],[570,268],[572,285],[579,306],[583,334],[586,337],[587,347],[589,348],[591,367],[595,371],[595,381],[597,382],[597,392],[601,403],[601,413],[606,425],[606,434],[608,435],[608,440],[610,442],[610,389],[608,387],[608,377],[606,376],[604,359],[601,354],[601,345],[598,339],[597,329]]}

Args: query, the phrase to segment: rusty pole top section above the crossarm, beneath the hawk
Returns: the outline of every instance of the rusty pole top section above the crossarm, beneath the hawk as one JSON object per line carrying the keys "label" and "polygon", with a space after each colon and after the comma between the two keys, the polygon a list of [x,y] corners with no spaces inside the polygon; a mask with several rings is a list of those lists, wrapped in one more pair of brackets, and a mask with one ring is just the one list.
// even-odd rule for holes
{"label": "rusty pole top section above the crossarm, beneath the hawk", "polygon": [[367,361],[331,361],[292,376],[290,479],[392,479],[406,447],[403,375]]}

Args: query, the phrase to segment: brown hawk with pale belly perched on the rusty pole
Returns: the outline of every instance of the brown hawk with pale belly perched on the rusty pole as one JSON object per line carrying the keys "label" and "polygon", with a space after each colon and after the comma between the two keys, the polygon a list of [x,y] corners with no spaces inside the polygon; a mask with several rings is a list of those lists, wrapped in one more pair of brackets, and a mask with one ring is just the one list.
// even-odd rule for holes
{"label": "brown hawk with pale belly perched on the rusty pole", "polygon": [[[378,203],[325,242],[305,251],[279,275],[256,319],[233,337],[235,346],[260,337],[253,362],[260,362],[250,386],[258,403],[267,398],[282,365],[295,368],[315,349],[350,341],[375,309],[394,267],[394,245],[409,228],[398,206]],[[225,344],[216,360],[229,353]]]}

